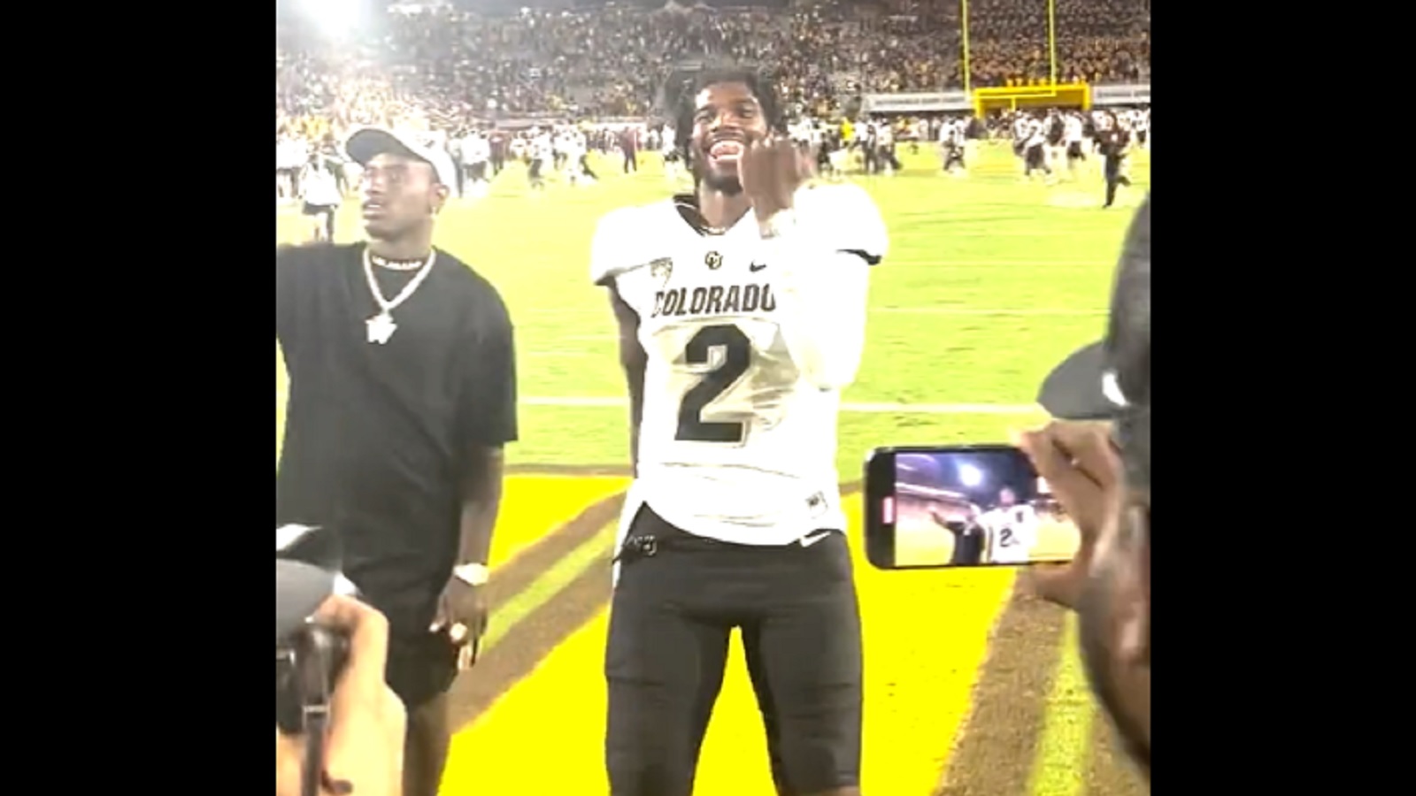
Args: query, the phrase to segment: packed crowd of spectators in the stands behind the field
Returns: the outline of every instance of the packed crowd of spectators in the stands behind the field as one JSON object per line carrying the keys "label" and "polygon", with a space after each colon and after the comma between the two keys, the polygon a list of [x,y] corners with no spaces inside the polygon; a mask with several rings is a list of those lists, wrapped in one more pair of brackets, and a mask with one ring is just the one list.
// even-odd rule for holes
{"label": "packed crowd of spectators in the stands behind the field", "polygon": [[[739,0],[750,1],[750,0]],[[1148,0],[1056,0],[1058,81],[1137,82],[1150,64]],[[1045,0],[969,3],[969,85],[1049,78]],[[353,38],[278,23],[276,115],[408,123],[517,115],[640,116],[675,65],[770,65],[801,110],[862,92],[964,88],[956,0],[790,7],[389,13]]]}

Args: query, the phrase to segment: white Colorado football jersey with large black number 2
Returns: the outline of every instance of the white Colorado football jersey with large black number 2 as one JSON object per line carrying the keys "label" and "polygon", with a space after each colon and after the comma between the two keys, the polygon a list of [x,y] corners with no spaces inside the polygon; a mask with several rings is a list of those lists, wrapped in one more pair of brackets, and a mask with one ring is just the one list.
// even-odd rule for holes
{"label": "white Colorado football jersey with large black number 2", "polygon": [[592,278],[639,314],[649,357],[622,534],[644,501],[736,544],[845,528],[837,412],[860,365],[885,224],[851,184],[801,188],[796,217],[770,241],[750,211],[701,234],[671,200],[600,220]]}

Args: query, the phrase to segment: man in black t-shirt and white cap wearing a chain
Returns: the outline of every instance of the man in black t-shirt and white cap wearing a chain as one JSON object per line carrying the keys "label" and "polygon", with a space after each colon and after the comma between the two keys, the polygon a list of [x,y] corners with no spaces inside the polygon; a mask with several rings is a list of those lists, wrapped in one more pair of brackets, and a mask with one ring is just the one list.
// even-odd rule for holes
{"label": "man in black t-shirt and white cap wearing a chain", "polygon": [[517,438],[513,330],[497,290],[432,248],[446,153],[379,129],[364,167],[368,244],[276,249],[276,339],[290,375],[276,527],[340,533],[344,574],[389,622],[408,707],[404,793],[436,796],[446,691],[486,629],[479,586]]}

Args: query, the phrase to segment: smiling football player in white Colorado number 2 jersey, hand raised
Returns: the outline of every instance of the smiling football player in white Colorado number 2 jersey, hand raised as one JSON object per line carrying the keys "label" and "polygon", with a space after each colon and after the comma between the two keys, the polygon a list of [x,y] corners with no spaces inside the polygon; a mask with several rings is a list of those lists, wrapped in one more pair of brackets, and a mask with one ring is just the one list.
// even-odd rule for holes
{"label": "smiling football player in white Colorado number 2 jersey, hand raised", "polygon": [[605,660],[613,796],[690,796],[741,629],[782,793],[860,795],[861,626],[835,425],[860,365],[871,197],[807,184],[770,81],[671,79],[691,194],[606,215],[630,394]]}

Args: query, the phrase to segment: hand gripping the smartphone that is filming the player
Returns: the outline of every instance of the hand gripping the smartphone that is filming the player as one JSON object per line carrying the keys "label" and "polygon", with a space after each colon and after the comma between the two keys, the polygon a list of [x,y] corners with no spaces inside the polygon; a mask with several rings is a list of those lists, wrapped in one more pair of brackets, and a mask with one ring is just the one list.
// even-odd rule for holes
{"label": "hand gripping the smartphone that is filming the player", "polygon": [[1096,540],[1120,500],[1121,462],[1110,426],[1052,422],[1021,435],[1018,446],[1052,487],[1052,494],[1076,523],[1082,537],[1070,564],[1034,567],[1029,571],[1032,588],[1042,599],[1075,609],[1092,567]]}

